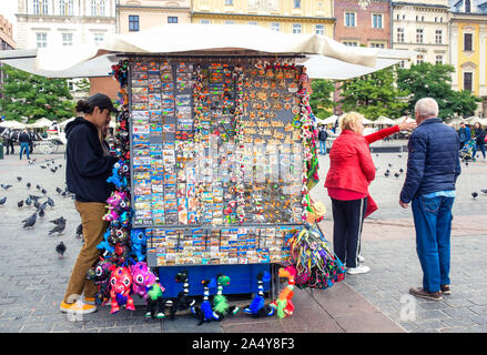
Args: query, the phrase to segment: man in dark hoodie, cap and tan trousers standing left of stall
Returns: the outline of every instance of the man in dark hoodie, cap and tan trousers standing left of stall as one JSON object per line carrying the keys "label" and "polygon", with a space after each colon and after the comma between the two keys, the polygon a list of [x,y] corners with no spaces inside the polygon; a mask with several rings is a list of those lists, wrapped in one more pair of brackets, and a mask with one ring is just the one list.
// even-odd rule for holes
{"label": "man in dark hoodie, cap and tan trousers standing left of stall", "polygon": [[[85,314],[97,311],[94,297],[98,287],[87,280],[87,272],[100,255],[97,245],[102,242],[109,224],[102,219],[108,212],[106,199],[113,190],[106,179],[118,161],[103,149],[103,130],[110,122],[110,114],[118,111],[110,98],[102,93],[79,101],[77,111],[84,113],[84,118],[77,118],[65,128],[65,173],[68,189],[75,196],[75,207],[81,216],[84,245],[74,264],[60,311]],[[81,300],[82,293],[87,304]]]}

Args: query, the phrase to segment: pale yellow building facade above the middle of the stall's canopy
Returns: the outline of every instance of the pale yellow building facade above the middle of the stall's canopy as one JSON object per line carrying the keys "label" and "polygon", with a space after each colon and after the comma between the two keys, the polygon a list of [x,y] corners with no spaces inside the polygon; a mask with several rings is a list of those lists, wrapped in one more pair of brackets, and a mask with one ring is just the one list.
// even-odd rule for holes
{"label": "pale yellow building facade above the middle of the stall's canopy", "polygon": [[255,24],[333,38],[333,0],[193,0],[193,23]]}

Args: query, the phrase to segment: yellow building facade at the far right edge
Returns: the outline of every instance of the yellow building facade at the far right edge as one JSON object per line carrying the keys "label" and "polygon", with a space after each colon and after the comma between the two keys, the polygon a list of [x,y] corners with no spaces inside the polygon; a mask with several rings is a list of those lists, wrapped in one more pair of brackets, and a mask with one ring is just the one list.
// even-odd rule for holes
{"label": "yellow building facade at the far right edge", "polygon": [[487,1],[450,1],[454,90],[483,99],[476,114],[487,116]]}

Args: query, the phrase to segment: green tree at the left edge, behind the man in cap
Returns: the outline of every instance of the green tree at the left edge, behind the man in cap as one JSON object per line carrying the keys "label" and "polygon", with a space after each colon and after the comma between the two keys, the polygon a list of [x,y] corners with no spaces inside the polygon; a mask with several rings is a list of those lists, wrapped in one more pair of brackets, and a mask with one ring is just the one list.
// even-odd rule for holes
{"label": "green tree at the left edge, behind the man in cap", "polygon": [[0,108],[6,120],[27,116],[32,123],[41,118],[59,121],[73,115],[73,98],[65,79],[33,75],[10,65],[2,65],[1,71],[4,80]]}

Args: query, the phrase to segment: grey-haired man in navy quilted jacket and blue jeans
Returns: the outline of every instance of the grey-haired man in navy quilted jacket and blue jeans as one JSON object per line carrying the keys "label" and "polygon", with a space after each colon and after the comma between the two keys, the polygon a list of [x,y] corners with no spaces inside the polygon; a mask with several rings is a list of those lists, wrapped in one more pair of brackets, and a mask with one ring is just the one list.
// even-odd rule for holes
{"label": "grey-haired man in navy quilted jacket and blue jeans", "polygon": [[459,139],[438,119],[434,99],[420,99],[415,106],[418,126],[409,138],[407,174],[399,204],[412,202],[416,251],[423,268],[423,287],[414,296],[439,301],[449,294],[452,206],[460,174]]}

